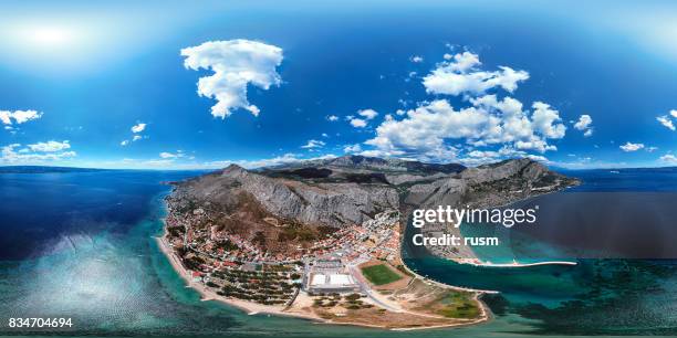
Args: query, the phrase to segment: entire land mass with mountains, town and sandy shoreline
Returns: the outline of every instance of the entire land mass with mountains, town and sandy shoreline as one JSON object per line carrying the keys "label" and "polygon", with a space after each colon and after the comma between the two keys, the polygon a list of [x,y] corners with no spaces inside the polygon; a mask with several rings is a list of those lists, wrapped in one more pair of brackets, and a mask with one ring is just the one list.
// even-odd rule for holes
{"label": "entire land mass with mountains, town and sandy shoreline", "polygon": [[[256,314],[388,329],[487,320],[482,291],[428,281],[400,256],[412,210],[502,205],[576,184],[529,159],[466,168],[346,156],[175,183],[158,239],[205,299]],[[427,226],[434,234],[458,229]],[[434,254],[481,264],[469,247]]]}

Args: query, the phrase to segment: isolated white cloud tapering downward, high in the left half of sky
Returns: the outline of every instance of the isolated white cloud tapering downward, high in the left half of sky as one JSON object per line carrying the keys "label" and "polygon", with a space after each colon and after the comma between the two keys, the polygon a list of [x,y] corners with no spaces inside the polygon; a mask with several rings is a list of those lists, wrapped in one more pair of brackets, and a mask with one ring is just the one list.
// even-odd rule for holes
{"label": "isolated white cloud tapering downward, high in the left half of sky", "polygon": [[211,70],[200,77],[198,94],[217,101],[211,115],[226,118],[238,108],[254,116],[259,108],[247,99],[247,86],[269,89],[282,82],[275,68],[282,63],[282,49],[250,40],[209,41],[181,50],[187,68]]}

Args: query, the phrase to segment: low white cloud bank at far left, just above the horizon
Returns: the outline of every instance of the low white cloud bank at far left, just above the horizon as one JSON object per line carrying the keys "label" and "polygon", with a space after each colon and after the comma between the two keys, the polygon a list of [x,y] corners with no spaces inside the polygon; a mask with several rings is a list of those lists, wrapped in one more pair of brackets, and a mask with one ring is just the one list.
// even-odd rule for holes
{"label": "low white cloud bank at far left, just above the horizon", "polygon": [[[0,162],[2,163],[37,163],[37,162],[48,162],[48,161],[58,161],[63,159],[70,159],[76,156],[75,151],[62,151],[64,149],[69,149],[71,146],[65,142],[60,144],[60,146],[51,145],[48,142],[38,142],[33,145],[29,145],[25,148],[21,148],[20,144],[11,144],[2,147],[0,149]],[[60,148],[61,149],[58,149]]]}

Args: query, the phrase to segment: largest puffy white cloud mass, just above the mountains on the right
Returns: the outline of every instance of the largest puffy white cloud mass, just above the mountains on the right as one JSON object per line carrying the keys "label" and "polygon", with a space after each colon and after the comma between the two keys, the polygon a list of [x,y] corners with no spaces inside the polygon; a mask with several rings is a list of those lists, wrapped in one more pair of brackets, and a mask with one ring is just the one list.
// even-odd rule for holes
{"label": "largest puffy white cloud mass, just above the mountains on the right", "polygon": [[455,109],[448,101],[438,99],[408,110],[404,119],[386,119],[365,142],[377,151],[367,151],[444,160],[457,155],[449,141],[460,140],[473,147],[504,145],[544,152],[556,150],[548,140],[560,139],[566,131],[559,112],[541,102],[533,104],[531,115],[511,97],[498,101],[486,95],[471,103],[471,107]]}

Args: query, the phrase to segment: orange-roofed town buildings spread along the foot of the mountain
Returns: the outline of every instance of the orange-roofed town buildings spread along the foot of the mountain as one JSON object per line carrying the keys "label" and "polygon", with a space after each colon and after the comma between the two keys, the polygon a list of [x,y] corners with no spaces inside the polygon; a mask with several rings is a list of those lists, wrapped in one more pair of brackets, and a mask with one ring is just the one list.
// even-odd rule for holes
{"label": "orange-roofed town buildings spread along the foot of the mountain", "polygon": [[311,293],[358,292],[348,265],[398,255],[399,213],[378,213],[363,224],[340,229],[325,239],[271,255],[251,240],[218,230],[202,208],[168,200],[167,240],[191,278],[220,295],[261,304],[293,302],[301,287]]}

